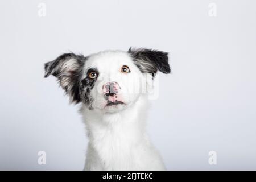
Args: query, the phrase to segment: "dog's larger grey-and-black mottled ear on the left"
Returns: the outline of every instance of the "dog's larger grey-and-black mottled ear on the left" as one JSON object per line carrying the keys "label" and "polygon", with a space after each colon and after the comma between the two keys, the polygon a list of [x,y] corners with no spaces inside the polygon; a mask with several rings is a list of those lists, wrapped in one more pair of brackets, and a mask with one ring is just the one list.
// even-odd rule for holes
{"label": "dog's larger grey-and-black mottled ear on the left", "polygon": [[69,95],[71,102],[75,104],[81,101],[79,93],[82,66],[86,57],[74,53],[64,53],[55,60],[44,64],[45,75],[55,76],[59,80],[61,88]]}

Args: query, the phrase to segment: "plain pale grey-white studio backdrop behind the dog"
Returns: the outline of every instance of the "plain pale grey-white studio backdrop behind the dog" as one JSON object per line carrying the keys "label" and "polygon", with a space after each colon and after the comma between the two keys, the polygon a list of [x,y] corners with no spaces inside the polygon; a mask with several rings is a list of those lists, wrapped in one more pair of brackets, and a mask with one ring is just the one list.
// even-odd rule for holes
{"label": "plain pale grey-white studio backdrop behind the dog", "polygon": [[167,169],[256,169],[255,9],[253,0],[0,1],[0,169],[81,170],[78,106],[43,78],[43,64],[130,46],[170,52],[172,74],[159,75],[148,119]]}

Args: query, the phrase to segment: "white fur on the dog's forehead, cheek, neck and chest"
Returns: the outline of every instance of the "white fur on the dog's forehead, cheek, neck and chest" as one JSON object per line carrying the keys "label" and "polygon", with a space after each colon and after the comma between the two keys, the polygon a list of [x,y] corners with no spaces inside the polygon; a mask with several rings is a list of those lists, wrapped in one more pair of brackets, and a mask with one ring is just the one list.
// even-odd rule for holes
{"label": "white fur on the dog's forehead, cheek, neck and chest", "polygon": [[[131,73],[119,72],[128,65]],[[143,78],[131,57],[122,51],[105,51],[91,55],[84,71],[96,67],[100,72],[92,89],[93,109],[82,105],[80,113],[88,131],[85,170],[164,170],[160,155],[152,146],[145,130],[148,99],[146,93],[131,93]],[[99,88],[107,81],[121,85],[125,105],[104,107]]]}

